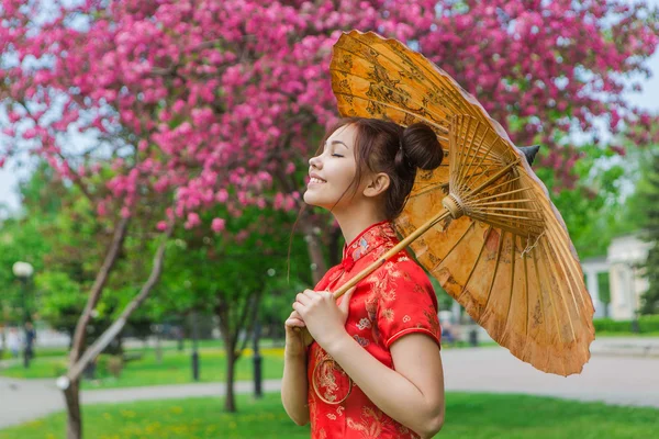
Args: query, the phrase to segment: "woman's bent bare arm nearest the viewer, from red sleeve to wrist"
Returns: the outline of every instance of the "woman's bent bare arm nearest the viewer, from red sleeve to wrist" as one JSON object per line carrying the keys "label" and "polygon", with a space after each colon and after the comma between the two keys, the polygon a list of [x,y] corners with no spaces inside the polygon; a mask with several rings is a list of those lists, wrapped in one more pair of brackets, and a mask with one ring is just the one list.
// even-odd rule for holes
{"label": "woman's bent bare arm nearest the viewer, from red sleeve to wrist", "polygon": [[[439,347],[428,336],[410,334],[391,345],[389,369],[347,333],[324,347],[382,412],[432,438],[444,425],[444,372]],[[382,385],[387,383],[387,385]]]}

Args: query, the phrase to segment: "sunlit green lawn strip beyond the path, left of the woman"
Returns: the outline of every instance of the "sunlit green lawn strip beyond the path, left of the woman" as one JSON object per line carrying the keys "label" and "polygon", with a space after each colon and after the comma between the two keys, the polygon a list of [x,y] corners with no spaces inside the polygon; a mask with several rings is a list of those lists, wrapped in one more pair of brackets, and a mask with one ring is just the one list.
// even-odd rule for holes
{"label": "sunlit green lawn strip beyond the path, left of the woman", "polygon": [[[283,372],[283,350],[281,348],[261,349],[264,379],[280,379]],[[226,357],[221,349],[204,348],[200,350],[200,381],[224,381]],[[11,378],[57,378],[66,370],[66,357],[37,357],[32,361],[30,369],[22,364],[14,364],[0,369],[0,374]],[[141,360],[130,361],[125,364],[119,379],[102,376],[96,381],[83,381],[83,389],[134,387],[158,384],[191,383],[191,359],[189,351],[179,352],[169,349],[163,352],[163,361],[156,361],[153,349],[144,352]],[[253,379],[252,351],[246,349],[236,362],[236,380]]]}

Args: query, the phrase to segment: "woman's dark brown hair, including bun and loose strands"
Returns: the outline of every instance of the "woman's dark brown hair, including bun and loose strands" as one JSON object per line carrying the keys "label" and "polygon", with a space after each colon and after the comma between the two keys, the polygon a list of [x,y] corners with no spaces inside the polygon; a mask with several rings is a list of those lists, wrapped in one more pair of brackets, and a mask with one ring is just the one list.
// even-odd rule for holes
{"label": "woman's dark brown hair, including bun and loose strands", "polygon": [[[357,171],[346,192],[350,188],[353,188],[353,195],[357,192],[366,170],[387,173],[390,184],[384,194],[383,213],[387,219],[392,221],[403,211],[414,185],[416,169],[432,170],[442,165],[444,150],[437,140],[437,135],[424,123],[415,123],[405,128],[379,119],[346,117],[327,131],[317,154],[322,151],[327,138],[336,130],[346,125],[354,125],[357,128],[355,138]],[[344,195],[345,192],[340,198],[343,199]]]}

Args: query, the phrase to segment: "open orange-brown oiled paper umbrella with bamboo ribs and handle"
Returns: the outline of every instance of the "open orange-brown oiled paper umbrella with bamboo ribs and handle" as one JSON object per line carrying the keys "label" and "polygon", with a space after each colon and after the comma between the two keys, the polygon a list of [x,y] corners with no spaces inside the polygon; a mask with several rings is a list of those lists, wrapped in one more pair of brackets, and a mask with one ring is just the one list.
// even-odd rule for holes
{"label": "open orange-brown oiled paper umbrella with bamboo ribs and handle", "polygon": [[439,168],[417,172],[394,222],[401,243],[335,297],[410,246],[515,357],[549,373],[581,372],[594,339],[592,300],[560,213],[503,127],[421,54],[371,32],[342,35],[331,74],[342,115],[424,122],[445,149]]}

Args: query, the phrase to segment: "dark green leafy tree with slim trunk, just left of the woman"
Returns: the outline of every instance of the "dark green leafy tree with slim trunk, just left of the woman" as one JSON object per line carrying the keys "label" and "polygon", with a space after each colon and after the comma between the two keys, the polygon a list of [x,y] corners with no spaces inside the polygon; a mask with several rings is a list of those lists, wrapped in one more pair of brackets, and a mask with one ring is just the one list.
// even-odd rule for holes
{"label": "dark green leafy tree with slim trunk, just left of the woman", "polygon": [[201,216],[202,227],[175,236],[155,292],[158,300],[147,308],[155,315],[194,311],[217,317],[227,359],[224,408],[235,412],[235,362],[252,338],[259,309],[268,322],[283,326],[295,293],[313,285],[306,244],[299,237],[293,239],[290,284],[287,281],[290,213],[247,207],[213,234],[210,223],[217,216],[223,212],[208,212]]}

